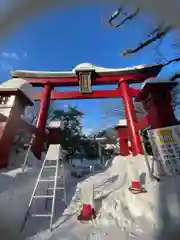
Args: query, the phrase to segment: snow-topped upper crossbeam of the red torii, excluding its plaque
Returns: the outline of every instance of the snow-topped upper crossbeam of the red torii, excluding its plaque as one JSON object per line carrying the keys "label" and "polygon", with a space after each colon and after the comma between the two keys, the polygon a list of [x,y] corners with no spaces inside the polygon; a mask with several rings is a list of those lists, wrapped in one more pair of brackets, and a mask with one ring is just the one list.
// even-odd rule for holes
{"label": "snow-topped upper crossbeam of the red torii, excluding its plaque", "polygon": [[78,86],[78,72],[92,71],[94,80],[92,85],[112,85],[121,81],[141,83],[149,77],[158,75],[162,65],[138,65],[128,68],[103,68],[90,63],[82,63],[68,72],[48,71],[12,71],[13,78],[24,78],[33,86],[42,87],[49,82],[53,86]]}

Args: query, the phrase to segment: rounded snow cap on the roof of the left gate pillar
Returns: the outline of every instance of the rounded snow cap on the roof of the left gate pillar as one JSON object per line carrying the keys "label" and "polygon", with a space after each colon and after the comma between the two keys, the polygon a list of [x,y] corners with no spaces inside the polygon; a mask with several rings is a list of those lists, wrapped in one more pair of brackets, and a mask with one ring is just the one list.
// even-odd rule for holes
{"label": "rounded snow cap on the roof of the left gate pillar", "polygon": [[22,91],[31,101],[34,99],[37,91],[35,88],[22,78],[13,78],[0,84],[1,89],[19,89]]}

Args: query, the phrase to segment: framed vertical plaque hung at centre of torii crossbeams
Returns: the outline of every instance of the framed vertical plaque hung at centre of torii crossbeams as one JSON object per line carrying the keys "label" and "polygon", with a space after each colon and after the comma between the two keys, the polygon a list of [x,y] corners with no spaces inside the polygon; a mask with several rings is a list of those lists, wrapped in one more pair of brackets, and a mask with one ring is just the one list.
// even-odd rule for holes
{"label": "framed vertical plaque hung at centre of torii crossbeams", "polygon": [[79,73],[79,86],[81,93],[91,93],[91,72]]}

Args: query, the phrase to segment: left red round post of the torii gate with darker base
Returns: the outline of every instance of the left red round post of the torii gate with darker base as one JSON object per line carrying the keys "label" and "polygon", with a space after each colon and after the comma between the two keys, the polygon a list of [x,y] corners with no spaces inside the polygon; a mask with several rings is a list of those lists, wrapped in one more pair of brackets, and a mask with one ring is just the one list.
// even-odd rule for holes
{"label": "left red round post of the torii gate with darker base", "polygon": [[[51,96],[52,86],[49,83],[44,85],[44,96],[40,103],[39,115],[36,123],[36,127],[41,134],[45,132],[46,122],[48,117],[48,110],[50,105],[50,96]],[[41,159],[41,153],[43,152],[44,148],[44,139],[42,136],[36,136],[36,139],[33,143],[32,150],[34,155]]]}

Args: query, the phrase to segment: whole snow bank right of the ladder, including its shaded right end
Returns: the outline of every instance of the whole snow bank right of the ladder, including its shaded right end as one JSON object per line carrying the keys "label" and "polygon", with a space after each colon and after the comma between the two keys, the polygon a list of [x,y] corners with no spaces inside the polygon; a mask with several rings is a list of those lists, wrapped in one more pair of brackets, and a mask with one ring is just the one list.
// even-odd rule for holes
{"label": "whole snow bank right of the ladder, including its shaded right end", "polygon": [[[163,177],[161,182],[157,182],[151,179],[146,164],[142,155],[126,158],[118,156],[105,172],[85,180],[94,184],[94,204],[98,211],[97,222],[100,225],[116,226],[122,231],[133,232],[135,236],[145,232],[152,236],[159,232],[166,235],[178,231],[180,177]],[[147,193],[135,195],[128,190],[133,180],[134,169],[138,170],[142,186]],[[77,212],[82,185],[83,182],[78,184],[66,213]]]}

